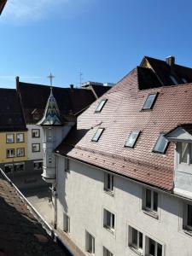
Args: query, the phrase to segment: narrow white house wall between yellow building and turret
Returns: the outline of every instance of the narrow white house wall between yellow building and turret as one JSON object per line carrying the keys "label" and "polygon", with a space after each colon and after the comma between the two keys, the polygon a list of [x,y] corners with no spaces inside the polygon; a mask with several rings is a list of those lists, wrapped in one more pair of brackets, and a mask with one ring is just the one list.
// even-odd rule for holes
{"label": "narrow white house wall between yellow building and turret", "polygon": [[[27,131],[27,153],[28,160],[43,159],[42,144],[43,144],[43,130],[39,125],[26,125]],[[40,129],[40,137],[32,137],[32,129]],[[32,152],[32,143],[40,143],[40,152]]]}

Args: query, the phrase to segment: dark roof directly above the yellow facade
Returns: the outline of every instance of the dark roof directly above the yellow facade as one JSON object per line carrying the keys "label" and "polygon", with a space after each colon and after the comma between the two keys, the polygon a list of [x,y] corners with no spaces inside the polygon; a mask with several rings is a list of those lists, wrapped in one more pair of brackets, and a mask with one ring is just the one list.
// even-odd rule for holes
{"label": "dark roof directly above the yellow facade", "polygon": [[26,131],[16,90],[0,88],[0,131]]}

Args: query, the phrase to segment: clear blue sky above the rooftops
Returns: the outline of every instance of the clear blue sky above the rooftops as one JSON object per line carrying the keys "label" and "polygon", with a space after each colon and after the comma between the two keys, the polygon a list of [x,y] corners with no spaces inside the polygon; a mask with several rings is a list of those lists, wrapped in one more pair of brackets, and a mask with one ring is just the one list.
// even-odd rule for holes
{"label": "clear blue sky above the rooftops", "polygon": [[[0,87],[21,81],[116,83],[143,55],[192,67],[191,0],[8,0],[0,16]],[[36,78],[26,78],[36,77]]]}

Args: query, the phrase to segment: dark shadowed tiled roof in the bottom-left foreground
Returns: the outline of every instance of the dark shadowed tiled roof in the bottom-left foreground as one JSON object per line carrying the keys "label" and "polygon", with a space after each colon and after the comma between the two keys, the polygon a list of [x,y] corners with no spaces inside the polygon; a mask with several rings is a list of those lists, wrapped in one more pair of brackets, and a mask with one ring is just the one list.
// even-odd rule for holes
{"label": "dark shadowed tiled roof in the bottom-left foreground", "polygon": [[49,238],[2,174],[0,208],[0,255],[71,255]]}

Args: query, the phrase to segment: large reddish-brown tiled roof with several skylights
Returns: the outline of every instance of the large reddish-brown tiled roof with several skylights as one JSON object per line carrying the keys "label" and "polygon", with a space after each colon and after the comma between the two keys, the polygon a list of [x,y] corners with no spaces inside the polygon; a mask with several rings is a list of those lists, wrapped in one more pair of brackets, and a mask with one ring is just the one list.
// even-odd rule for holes
{"label": "large reddish-brown tiled roof with several skylights", "polygon": [[[83,160],[125,177],[172,190],[174,146],[166,154],[153,153],[160,132],[192,123],[192,84],[139,90],[138,69],[126,75],[103,95],[108,102],[95,113],[102,97],[79,116],[78,130],[55,149],[58,154]],[[154,108],[142,110],[148,94],[158,92]],[[105,128],[97,143],[91,142],[98,127]],[[73,129],[74,130],[74,129]],[[134,148],[125,148],[131,131],[141,131]]]}

